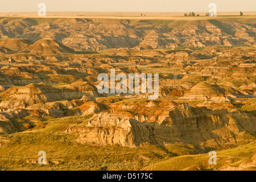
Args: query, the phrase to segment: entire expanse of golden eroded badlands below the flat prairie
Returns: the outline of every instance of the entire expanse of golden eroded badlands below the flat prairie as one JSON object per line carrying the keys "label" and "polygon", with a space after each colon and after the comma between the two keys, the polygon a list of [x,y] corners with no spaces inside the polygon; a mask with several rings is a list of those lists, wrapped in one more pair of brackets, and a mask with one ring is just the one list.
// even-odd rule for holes
{"label": "entire expanse of golden eroded badlands below the flat prairie", "polygon": [[[256,169],[255,16],[2,16],[0,38],[0,169]],[[98,93],[110,69],[159,98]]]}

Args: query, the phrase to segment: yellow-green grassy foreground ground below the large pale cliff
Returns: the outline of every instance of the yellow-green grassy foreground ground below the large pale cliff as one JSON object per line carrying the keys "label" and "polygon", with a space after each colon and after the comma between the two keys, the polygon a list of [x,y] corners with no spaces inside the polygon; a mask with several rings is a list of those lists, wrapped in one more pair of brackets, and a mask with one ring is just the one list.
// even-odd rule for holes
{"label": "yellow-green grassy foreground ground below the large pale cliff", "polygon": [[[2,170],[213,170],[237,166],[255,154],[255,142],[217,151],[217,165],[210,166],[208,154],[192,144],[140,147],[88,146],[77,143],[79,134],[65,133],[68,127],[85,126],[92,115],[45,118],[33,129],[0,134]],[[28,119],[28,118],[27,118]],[[38,164],[38,152],[45,151],[49,164]]]}

